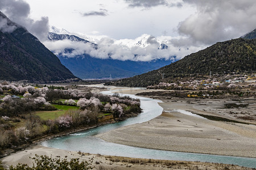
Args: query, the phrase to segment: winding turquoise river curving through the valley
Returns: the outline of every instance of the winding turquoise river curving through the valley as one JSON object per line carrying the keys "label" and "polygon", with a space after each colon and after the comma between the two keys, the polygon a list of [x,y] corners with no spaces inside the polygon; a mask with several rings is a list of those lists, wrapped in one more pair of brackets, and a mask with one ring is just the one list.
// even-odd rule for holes
{"label": "winding turquoise river curving through the valley", "polygon": [[[104,91],[102,94],[111,95],[111,91]],[[244,167],[256,168],[255,158],[244,158],[237,156],[221,156],[208,154],[195,154],[189,152],[173,152],[163,150],[153,150],[148,148],[132,147],[119,145],[116,143],[106,142],[95,135],[121,128],[132,124],[146,122],[159,116],[163,108],[158,105],[160,100],[154,100],[147,97],[139,97],[135,95],[127,95],[141,100],[141,108],[143,112],[137,117],[129,118],[115,124],[107,124],[98,126],[97,128],[80,131],[78,133],[69,134],[63,137],[57,137],[44,141],[41,145],[46,147],[60,148],[69,151],[81,151],[90,154],[127,156],[132,158],[148,158],[148,159],[165,159],[165,160],[186,160],[213,162],[225,164],[237,164]]]}

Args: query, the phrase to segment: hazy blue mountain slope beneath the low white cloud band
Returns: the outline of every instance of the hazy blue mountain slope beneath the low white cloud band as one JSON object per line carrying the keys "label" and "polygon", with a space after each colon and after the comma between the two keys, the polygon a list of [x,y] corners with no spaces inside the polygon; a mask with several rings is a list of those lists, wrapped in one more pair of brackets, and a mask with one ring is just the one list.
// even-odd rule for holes
{"label": "hazy blue mountain slope beneath the low white cloud band", "polygon": [[90,78],[126,78],[170,64],[171,60],[157,59],[150,62],[142,61],[121,61],[118,59],[100,59],[89,55],[68,58],[58,56],[61,63],[81,79]]}

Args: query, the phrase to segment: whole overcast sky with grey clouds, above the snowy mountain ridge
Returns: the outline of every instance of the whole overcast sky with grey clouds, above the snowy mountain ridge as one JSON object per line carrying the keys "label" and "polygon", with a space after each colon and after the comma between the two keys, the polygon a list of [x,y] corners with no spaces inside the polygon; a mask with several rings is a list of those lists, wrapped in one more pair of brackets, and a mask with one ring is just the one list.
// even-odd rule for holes
{"label": "whole overcast sky with grey clouds, above the snowy mountain ridge", "polygon": [[252,31],[255,9],[255,0],[0,0],[0,10],[40,40],[49,25],[115,40],[147,34],[180,58]]}

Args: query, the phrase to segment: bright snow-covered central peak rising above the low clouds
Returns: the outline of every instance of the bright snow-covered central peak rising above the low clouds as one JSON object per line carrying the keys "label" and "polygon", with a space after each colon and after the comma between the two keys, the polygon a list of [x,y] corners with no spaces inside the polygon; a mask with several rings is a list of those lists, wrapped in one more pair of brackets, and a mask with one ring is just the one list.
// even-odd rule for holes
{"label": "bright snow-covered central peak rising above the low clouds", "polygon": [[156,39],[152,35],[143,34],[136,39],[121,39],[115,40],[114,44],[126,46],[127,48],[133,48],[134,46],[139,46],[141,48],[146,48],[148,45],[158,45],[158,49],[167,49],[168,46],[164,42]]}

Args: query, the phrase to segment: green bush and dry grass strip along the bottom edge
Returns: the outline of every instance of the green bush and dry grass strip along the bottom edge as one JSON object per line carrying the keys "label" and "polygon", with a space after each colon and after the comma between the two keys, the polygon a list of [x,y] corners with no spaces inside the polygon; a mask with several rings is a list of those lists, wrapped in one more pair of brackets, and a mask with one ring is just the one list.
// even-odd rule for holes
{"label": "green bush and dry grass strip along the bottom edge", "polygon": [[[201,162],[185,162],[174,160],[156,160],[156,159],[139,159],[126,158],[122,156],[104,156],[104,155],[90,155],[82,152],[75,153],[76,157],[80,159],[71,158],[68,161],[67,155],[57,156],[52,158],[46,155],[36,155],[34,158],[34,165],[29,167],[27,164],[18,164],[10,169],[255,169],[240,167],[238,165],[221,164],[221,163],[201,163]],[[85,161],[85,159],[88,161]],[[48,166],[46,168],[46,165]],[[4,169],[3,167],[0,169]]]}

